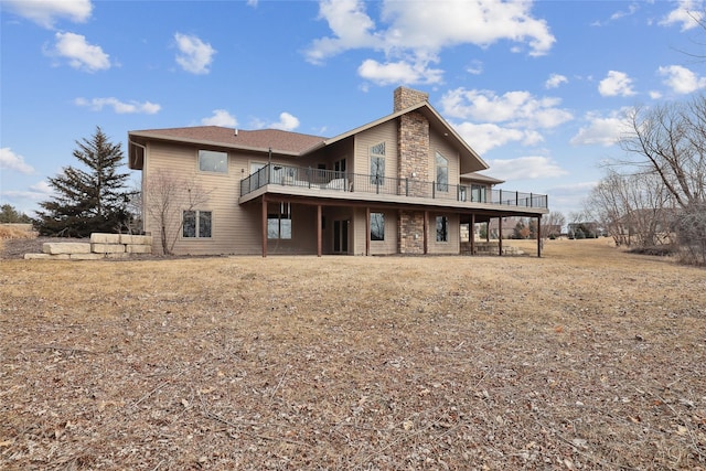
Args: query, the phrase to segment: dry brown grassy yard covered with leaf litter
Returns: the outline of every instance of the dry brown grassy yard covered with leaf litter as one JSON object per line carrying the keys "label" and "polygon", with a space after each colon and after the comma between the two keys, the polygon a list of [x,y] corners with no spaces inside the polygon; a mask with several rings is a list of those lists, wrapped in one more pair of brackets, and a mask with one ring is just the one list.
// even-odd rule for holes
{"label": "dry brown grassy yard covered with leaf litter", "polygon": [[607,239],[3,256],[0,469],[706,470],[705,292]]}

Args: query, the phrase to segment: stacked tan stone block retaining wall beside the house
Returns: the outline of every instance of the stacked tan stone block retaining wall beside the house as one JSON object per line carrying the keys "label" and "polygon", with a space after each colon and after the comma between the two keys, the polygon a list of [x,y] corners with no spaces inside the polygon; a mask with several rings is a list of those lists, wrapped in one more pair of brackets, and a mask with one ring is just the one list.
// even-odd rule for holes
{"label": "stacked tan stone block retaining wall beside the house", "polygon": [[151,254],[152,236],[130,234],[90,234],[89,243],[47,242],[42,254],[24,254],[25,260],[99,260],[127,258],[131,254]]}

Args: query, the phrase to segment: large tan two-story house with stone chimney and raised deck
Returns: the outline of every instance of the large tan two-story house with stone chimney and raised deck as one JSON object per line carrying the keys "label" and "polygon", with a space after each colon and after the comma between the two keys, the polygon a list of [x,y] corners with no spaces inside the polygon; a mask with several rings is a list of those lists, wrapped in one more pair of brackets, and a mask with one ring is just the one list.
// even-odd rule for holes
{"label": "large tan two-story house with stone chimney and raised deck", "polygon": [[391,115],[333,138],[203,126],[128,141],[145,231],[174,254],[472,254],[477,224],[548,213],[546,195],[478,173],[489,165],[406,87]]}

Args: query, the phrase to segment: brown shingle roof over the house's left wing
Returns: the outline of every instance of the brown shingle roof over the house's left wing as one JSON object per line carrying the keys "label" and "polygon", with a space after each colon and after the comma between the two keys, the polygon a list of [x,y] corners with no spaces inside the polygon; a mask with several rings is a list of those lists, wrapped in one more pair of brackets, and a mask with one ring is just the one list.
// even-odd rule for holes
{"label": "brown shingle roof over the house's left wing", "polygon": [[324,141],[324,138],[278,129],[255,131],[236,130],[220,126],[196,126],[189,128],[147,129],[130,131],[132,138],[180,140],[185,142],[211,143],[233,148],[269,149],[275,152],[301,153]]}

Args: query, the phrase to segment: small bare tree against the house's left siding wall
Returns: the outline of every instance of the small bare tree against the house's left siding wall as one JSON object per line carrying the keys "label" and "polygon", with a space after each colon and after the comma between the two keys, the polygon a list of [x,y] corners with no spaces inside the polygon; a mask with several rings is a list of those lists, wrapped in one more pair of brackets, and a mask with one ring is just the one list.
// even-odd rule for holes
{"label": "small bare tree against the house's left siding wall", "polygon": [[146,211],[159,226],[160,245],[164,255],[172,255],[174,244],[184,225],[184,211],[193,211],[208,201],[210,192],[194,179],[160,172],[148,178],[145,191]]}

